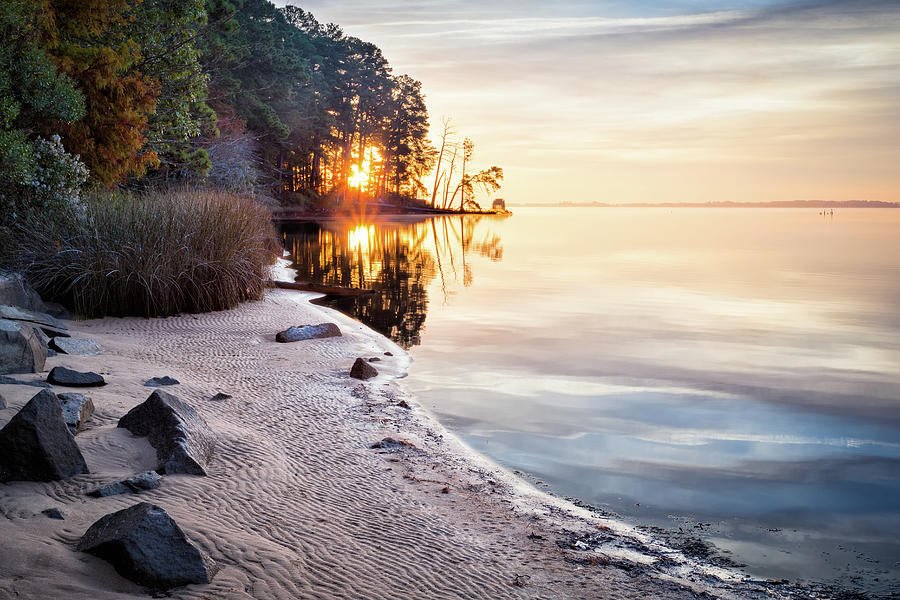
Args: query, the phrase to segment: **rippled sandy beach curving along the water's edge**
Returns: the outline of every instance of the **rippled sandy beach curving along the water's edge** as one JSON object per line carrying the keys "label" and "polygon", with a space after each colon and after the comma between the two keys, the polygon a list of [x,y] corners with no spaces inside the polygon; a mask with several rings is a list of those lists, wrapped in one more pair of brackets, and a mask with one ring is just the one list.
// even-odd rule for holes
{"label": "rippled sandy beach curving along the water's edge", "polygon": [[[91,473],[0,485],[0,598],[145,595],[75,551],[94,521],[139,501],[163,507],[222,567],[209,585],[166,592],[178,598],[809,597],[742,583],[471,452],[404,392],[397,378],[409,359],[399,347],[313,297],[275,290],[223,312],[70,323],[104,349],[47,363],[108,382],[87,391],[96,412],[76,438]],[[274,341],[290,325],[326,321],[343,336]],[[356,357],[379,358],[379,376],[351,379]],[[116,423],[152,392],[144,381],[162,375],[181,382],[166,391],[217,436],[209,475],[85,496],[154,468],[146,439]],[[0,425],[37,391],[0,385],[9,404]],[[211,400],[219,392],[232,397]],[[386,437],[408,444],[372,448]],[[48,508],[65,520],[41,514]]]}

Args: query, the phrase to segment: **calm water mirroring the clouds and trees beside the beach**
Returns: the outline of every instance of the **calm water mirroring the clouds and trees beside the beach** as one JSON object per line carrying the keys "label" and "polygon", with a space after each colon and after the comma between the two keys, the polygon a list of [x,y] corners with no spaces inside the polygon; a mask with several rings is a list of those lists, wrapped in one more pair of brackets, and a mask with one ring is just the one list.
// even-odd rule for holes
{"label": "calm water mirroring the clouds and trees beside the beach", "polygon": [[307,225],[298,280],[501,464],[757,576],[900,591],[900,210]]}

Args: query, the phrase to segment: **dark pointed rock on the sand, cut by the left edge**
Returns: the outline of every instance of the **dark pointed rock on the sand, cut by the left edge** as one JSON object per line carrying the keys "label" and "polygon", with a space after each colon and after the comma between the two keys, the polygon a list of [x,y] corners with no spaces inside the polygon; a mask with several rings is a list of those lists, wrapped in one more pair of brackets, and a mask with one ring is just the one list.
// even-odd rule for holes
{"label": "dark pointed rock on the sand, cut by the left edge", "polygon": [[54,481],[87,472],[50,390],[38,392],[0,430],[0,481]]}

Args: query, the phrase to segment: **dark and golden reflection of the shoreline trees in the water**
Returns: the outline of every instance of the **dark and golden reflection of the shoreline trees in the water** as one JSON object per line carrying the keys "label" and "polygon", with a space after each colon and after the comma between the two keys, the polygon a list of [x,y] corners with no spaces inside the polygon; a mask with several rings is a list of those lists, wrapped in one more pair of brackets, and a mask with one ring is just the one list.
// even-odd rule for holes
{"label": "dark and golden reflection of the shoreline trees in the water", "polygon": [[[477,215],[417,222],[294,223],[282,226],[297,281],[373,289],[376,296],[326,296],[317,301],[358,319],[403,348],[421,342],[428,287],[437,279],[442,302],[473,282],[474,252],[503,259],[500,236]],[[476,233],[476,230],[477,233]]]}

